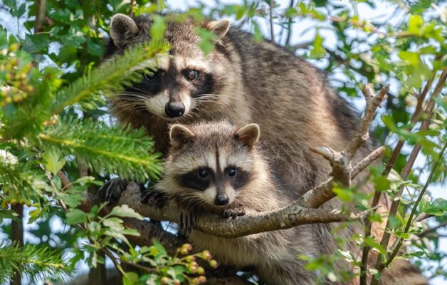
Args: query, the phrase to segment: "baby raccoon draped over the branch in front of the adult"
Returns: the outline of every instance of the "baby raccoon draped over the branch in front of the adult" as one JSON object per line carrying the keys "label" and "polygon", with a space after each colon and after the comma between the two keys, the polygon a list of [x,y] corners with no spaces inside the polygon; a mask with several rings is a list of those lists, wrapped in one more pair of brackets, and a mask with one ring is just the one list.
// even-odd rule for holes
{"label": "baby raccoon draped over the branch in front of the adult", "polygon": [[[192,229],[196,214],[222,217],[279,209],[281,195],[267,162],[256,147],[259,127],[226,122],[173,125],[172,147],[163,179],[146,199],[166,198],[181,209],[180,227],[199,249],[209,249],[223,264],[254,266],[267,284],[314,284],[298,254],[319,256],[310,225],[225,239]],[[164,195],[164,197],[163,197]]]}

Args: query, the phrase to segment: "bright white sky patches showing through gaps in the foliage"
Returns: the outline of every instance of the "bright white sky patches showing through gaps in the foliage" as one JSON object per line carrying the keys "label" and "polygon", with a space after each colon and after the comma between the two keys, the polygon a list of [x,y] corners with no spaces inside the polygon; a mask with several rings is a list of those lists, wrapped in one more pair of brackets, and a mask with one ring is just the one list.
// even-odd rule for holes
{"label": "bright white sky patches showing through gaps in the foliage", "polygon": [[[222,4],[241,4],[241,2],[242,2],[242,0],[240,0],[240,1],[222,0],[221,1]],[[340,0],[339,3],[349,5],[349,2],[350,1],[348,1],[348,0]],[[181,10],[185,10],[189,6],[194,6],[196,3],[197,3],[196,1],[192,1],[192,0],[168,0],[167,1],[167,4],[172,9],[181,9]],[[210,6],[213,6],[212,3],[214,3],[214,2],[211,2],[211,1],[207,2],[207,4],[209,4]],[[275,3],[280,5],[280,9],[285,9],[288,6],[288,0],[277,0],[277,1],[275,1]],[[393,12],[394,12],[393,5],[391,5],[389,3],[384,3],[383,1],[376,1],[376,3],[377,3],[376,9],[372,9],[367,4],[359,4],[358,5],[357,8],[359,10],[359,15],[362,17],[362,19],[370,19],[370,20],[374,20],[374,21],[389,21],[391,24],[396,24],[396,21],[399,21],[399,19],[400,19],[399,16],[394,16],[394,17],[390,18],[391,14],[393,14]],[[445,7],[447,4],[443,4],[443,5]],[[16,21],[11,21],[11,19],[9,18],[9,16],[6,14],[5,11],[0,11],[0,24],[4,24],[5,26],[7,26],[7,28],[9,28],[9,31],[11,31],[12,33],[17,33],[17,31],[18,31]],[[20,26],[20,24],[19,24],[19,26]],[[315,31],[316,31],[315,26],[316,26],[316,22],[312,21],[310,19],[298,20],[293,25],[291,45],[312,41],[313,38],[315,37]],[[265,37],[269,38],[270,29],[269,29],[269,25],[267,22],[261,24],[261,29],[262,29]],[[24,31],[24,29],[22,28],[21,32],[23,33],[23,31]],[[276,39],[279,38],[279,31],[280,31],[280,27],[275,26],[275,38]],[[354,33],[355,32],[352,32],[352,34],[350,34],[350,36],[357,36]],[[320,29],[320,35],[324,38],[323,44],[327,48],[332,48],[332,49],[335,48],[335,46],[337,45],[337,39],[336,39],[334,33],[332,33],[332,31],[330,31],[328,29]],[[322,68],[326,64],[325,61],[311,61],[311,63],[317,67],[320,67],[320,68]],[[330,76],[332,78],[337,78],[337,76],[342,76],[342,75],[335,73],[335,74],[331,74]],[[395,84],[391,84],[391,91],[393,90],[393,88],[394,88],[394,90],[396,90],[397,87]],[[357,108],[357,110],[362,111],[364,109],[364,100],[362,98],[356,99],[356,100],[354,100],[354,105],[355,105],[355,108]],[[418,159],[416,160],[415,167],[422,166],[422,165],[424,165],[424,163],[425,163],[425,157],[423,155],[419,155]],[[428,173],[423,173],[423,175],[421,175],[421,181],[424,182],[426,180],[426,177],[428,177]],[[433,198],[443,197],[444,199],[447,199],[447,190],[444,189],[441,185],[431,185],[429,187],[429,191],[432,193]],[[61,223],[60,219],[53,219],[51,222],[51,227],[56,232],[64,230],[63,224]],[[26,228],[31,229],[31,228],[33,228],[33,226],[27,225]],[[443,229],[443,233],[447,234],[447,230]],[[1,233],[0,233],[0,237],[2,237]],[[4,234],[3,234],[3,237],[4,237]],[[26,239],[28,239],[29,241],[32,241],[33,237],[28,234],[28,235],[26,235]],[[446,249],[446,251],[447,251],[447,239],[446,238],[441,239],[441,248]],[[445,264],[445,266],[447,266],[447,264]],[[83,266],[83,268],[85,269],[85,266]],[[430,284],[441,285],[441,284],[446,284],[446,283],[445,283],[445,281],[443,281],[443,279],[436,278],[436,279],[431,280]]]}

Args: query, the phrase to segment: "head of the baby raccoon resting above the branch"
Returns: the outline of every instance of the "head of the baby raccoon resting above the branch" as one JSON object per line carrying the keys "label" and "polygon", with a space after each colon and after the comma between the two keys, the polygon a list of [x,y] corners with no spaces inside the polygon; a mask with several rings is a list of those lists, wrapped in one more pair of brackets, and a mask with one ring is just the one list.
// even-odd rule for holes
{"label": "head of the baby raccoon resting above the branch", "polygon": [[173,125],[169,136],[172,151],[166,176],[172,177],[184,202],[224,207],[250,182],[258,125]]}

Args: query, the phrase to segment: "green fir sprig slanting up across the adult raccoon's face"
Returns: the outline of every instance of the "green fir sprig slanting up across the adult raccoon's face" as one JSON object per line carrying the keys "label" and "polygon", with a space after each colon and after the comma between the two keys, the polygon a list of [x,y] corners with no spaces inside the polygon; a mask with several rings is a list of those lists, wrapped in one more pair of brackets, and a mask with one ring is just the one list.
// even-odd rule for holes
{"label": "green fir sprig slanting up across the adult raccoon's face", "polygon": [[125,86],[142,80],[145,69],[157,66],[157,55],[166,52],[166,48],[149,48],[137,46],[126,51],[122,56],[111,58],[100,68],[88,72],[67,88],[56,94],[51,114],[59,114],[69,105],[80,103],[83,107],[94,101],[102,101],[102,96],[110,96]]}

